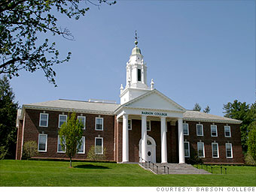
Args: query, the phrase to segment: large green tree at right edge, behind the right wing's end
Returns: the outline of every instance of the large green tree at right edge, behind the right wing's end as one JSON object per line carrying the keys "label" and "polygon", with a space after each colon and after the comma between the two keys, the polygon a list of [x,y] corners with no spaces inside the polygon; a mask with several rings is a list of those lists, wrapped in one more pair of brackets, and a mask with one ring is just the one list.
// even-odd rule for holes
{"label": "large green tree at right edge, behind the right wing's end", "polygon": [[224,104],[224,116],[227,118],[235,118],[242,121],[240,126],[241,130],[241,143],[242,143],[242,151],[245,153],[248,149],[248,131],[250,124],[252,124],[256,119],[256,110],[255,107],[256,102],[254,104],[246,104],[246,102],[239,102],[237,100],[233,101],[233,103],[228,102]]}

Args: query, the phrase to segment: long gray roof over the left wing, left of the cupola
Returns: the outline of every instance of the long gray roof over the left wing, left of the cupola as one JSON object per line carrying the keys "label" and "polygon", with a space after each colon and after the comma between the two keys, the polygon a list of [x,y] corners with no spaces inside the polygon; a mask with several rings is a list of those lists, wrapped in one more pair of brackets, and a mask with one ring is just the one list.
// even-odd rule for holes
{"label": "long gray roof over the left wing, left of the cupola", "polygon": [[72,100],[54,100],[54,101],[45,101],[35,104],[26,104],[23,107],[26,108],[61,108],[65,110],[81,110],[81,111],[100,111],[105,113],[114,113],[114,110],[119,107],[120,104],[107,104],[107,103],[97,103],[89,101],[72,101]]}

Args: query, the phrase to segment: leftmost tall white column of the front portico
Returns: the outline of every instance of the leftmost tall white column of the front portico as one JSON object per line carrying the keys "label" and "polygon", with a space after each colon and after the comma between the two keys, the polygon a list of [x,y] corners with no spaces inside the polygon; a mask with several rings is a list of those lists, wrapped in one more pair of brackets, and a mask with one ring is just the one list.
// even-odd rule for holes
{"label": "leftmost tall white column of the front portico", "polygon": [[129,161],[129,140],[128,140],[128,115],[123,115],[123,160]]}

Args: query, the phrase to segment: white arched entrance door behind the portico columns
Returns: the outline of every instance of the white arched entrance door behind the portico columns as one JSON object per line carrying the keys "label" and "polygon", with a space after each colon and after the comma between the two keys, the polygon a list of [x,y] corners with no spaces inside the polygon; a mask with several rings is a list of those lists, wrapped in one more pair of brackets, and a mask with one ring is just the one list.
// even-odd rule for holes
{"label": "white arched entrance door behind the portico columns", "polygon": [[[139,157],[142,157],[142,139],[139,141]],[[146,158],[152,163],[156,163],[156,142],[151,136],[147,136]]]}

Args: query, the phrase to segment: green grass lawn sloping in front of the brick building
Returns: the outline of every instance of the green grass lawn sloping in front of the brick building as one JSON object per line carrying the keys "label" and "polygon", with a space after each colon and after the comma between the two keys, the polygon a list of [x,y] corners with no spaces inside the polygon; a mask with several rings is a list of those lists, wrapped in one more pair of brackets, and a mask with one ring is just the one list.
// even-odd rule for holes
{"label": "green grass lawn sloping in front of the brick building", "polygon": [[137,164],[72,165],[69,168],[67,161],[0,160],[0,186],[256,186],[255,166],[228,166],[227,175],[154,175]]}

